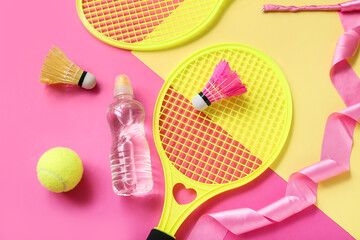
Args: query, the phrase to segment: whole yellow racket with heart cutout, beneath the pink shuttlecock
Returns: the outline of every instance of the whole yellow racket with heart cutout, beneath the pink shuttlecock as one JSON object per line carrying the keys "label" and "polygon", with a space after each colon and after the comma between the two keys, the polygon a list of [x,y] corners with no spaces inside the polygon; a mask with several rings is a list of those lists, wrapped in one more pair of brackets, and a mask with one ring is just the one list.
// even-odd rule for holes
{"label": "whole yellow racket with heart cutout, beneath the pink shuttlecock", "polygon": [[[241,76],[248,92],[199,112],[191,99],[221,59]],[[286,79],[263,53],[223,44],[185,60],[164,84],[155,107],[154,138],[166,194],[159,226],[148,239],[174,239],[181,223],[203,202],[258,177],[283,147],[291,118]],[[178,203],[173,191],[179,184],[195,190],[195,200]]]}

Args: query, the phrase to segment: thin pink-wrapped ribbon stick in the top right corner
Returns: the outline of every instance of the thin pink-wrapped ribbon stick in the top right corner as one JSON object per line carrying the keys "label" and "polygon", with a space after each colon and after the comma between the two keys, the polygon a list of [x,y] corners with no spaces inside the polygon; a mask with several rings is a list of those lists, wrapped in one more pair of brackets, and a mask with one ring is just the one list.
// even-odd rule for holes
{"label": "thin pink-wrapped ribbon stick in the top right corner", "polygon": [[312,5],[312,6],[280,6],[264,5],[263,12],[298,12],[298,11],[340,11],[352,12],[360,10],[360,0],[339,3],[336,5]]}

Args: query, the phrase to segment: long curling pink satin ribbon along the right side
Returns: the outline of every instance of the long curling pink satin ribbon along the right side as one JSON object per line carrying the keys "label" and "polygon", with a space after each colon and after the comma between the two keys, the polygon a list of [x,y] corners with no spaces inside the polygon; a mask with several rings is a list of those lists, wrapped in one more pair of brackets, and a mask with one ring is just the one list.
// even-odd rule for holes
{"label": "long curling pink satin ribbon along the right side", "polygon": [[319,182],[349,171],[353,132],[360,122],[360,79],[346,59],[359,45],[360,13],[339,15],[345,33],[338,39],[330,78],[347,108],[329,116],[320,161],[293,173],[285,197],[258,211],[242,208],[202,216],[188,240],[224,239],[228,231],[238,235],[280,222],[316,202]]}

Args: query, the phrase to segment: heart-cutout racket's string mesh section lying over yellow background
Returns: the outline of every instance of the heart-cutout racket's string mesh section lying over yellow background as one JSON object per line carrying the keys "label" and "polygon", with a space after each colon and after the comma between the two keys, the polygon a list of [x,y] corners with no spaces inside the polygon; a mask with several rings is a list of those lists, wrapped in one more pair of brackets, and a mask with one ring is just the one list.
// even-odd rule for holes
{"label": "heart-cutout racket's string mesh section lying over yellow background", "polygon": [[249,50],[217,49],[204,53],[179,71],[172,86],[192,99],[210,79],[221,59],[241,76],[248,92],[213,103],[205,113],[252,154],[267,161],[274,153],[286,126],[288,102],[279,73]]}

